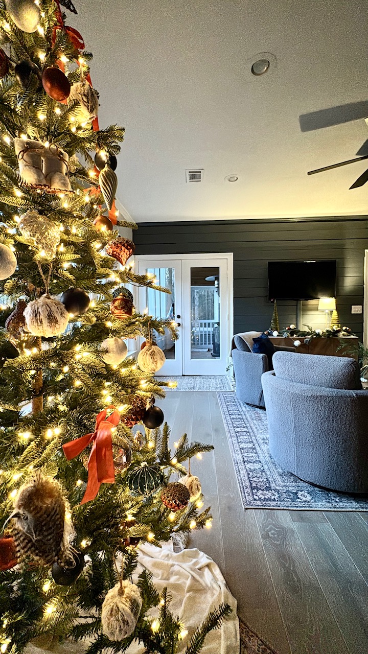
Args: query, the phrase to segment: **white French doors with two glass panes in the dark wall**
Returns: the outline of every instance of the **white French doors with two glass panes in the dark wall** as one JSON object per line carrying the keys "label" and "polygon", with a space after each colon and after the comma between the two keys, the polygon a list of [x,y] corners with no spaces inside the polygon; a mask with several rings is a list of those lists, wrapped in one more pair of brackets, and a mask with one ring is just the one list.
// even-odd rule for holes
{"label": "white French doors with two glass panes in the dark wall", "polygon": [[[232,255],[136,256],[170,294],[139,288],[139,311],[176,322],[179,340],[155,334],[166,363],[158,375],[225,375],[232,336]],[[229,320],[230,318],[230,320]]]}

